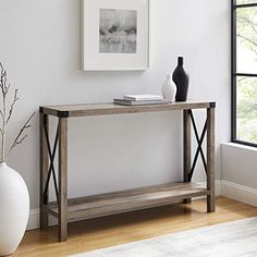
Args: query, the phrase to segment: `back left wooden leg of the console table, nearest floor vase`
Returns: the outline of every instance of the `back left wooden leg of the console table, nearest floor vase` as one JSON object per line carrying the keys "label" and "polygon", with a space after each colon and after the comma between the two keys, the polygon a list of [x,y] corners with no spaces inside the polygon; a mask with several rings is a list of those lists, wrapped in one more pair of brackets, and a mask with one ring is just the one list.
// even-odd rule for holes
{"label": "back left wooden leg of the console table, nearest floor vase", "polygon": [[48,148],[47,148],[47,139],[44,130],[44,120],[46,123],[46,127],[48,130],[49,121],[48,115],[40,113],[40,228],[41,230],[48,229],[48,197],[46,205],[44,204],[44,192],[47,182],[48,175],[48,166],[49,166],[49,158],[48,158]]}

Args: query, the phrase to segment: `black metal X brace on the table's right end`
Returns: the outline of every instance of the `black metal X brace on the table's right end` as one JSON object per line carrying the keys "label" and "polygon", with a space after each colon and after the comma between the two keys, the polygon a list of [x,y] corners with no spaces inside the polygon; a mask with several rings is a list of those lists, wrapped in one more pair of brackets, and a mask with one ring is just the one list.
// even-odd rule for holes
{"label": "black metal X brace on the table's right end", "polygon": [[196,162],[198,160],[199,154],[200,154],[204,167],[205,167],[205,171],[207,173],[207,162],[206,162],[205,154],[204,154],[204,150],[203,150],[203,143],[204,143],[206,132],[207,132],[207,120],[205,122],[204,130],[203,130],[201,135],[199,137],[199,134],[197,132],[195,118],[194,118],[194,114],[193,114],[192,110],[189,110],[189,117],[191,117],[191,120],[192,120],[195,137],[196,137],[196,140],[197,140],[197,144],[198,144],[197,149],[196,149],[196,154],[195,154],[195,158],[194,158],[194,161],[193,161],[193,164],[192,164],[192,168],[191,168],[191,173],[188,174],[188,180],[191,181],[192,178],[193,178],[194,171],[195,171],[195,167],[196,167]]}

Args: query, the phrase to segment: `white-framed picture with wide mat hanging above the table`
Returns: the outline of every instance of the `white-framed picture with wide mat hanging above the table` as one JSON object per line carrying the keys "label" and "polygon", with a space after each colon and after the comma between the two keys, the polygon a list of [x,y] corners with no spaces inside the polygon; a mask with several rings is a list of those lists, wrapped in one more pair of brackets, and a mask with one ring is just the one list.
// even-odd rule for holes
{"label": "white-framed picture with wide mat hanging above the table", "polygon": [[150,0],[82,0],[82,70],[149,68]]}

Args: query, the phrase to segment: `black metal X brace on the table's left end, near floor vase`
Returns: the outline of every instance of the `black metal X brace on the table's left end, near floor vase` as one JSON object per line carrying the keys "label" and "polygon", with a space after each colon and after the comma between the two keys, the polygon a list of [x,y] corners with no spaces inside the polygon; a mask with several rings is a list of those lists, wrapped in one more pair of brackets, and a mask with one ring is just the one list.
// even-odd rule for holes
{"label": "black metal X brace on the table's left end, near floor vase", "polygon": [[47,130],[47,121],[46,120],[44,120],[44,131],[45,131],[45,135],[46,135],[46,139],[47,139],[47,148],[48,148],[48,155],[49,155],[49,159],[50,159],[50,166],[49,166],[47,181],[46,181],[45,191],[44,191],[44,204],[47,205],[47,203],[48,203],[48,189],[49,189],[51,173],[52,173],[52,178],[53,178],[53,184],[54,184],[54,189],[56,189],[57,201],[59,201],[57,176],[56,176],[56,170],[54,170],[54,163],[53,163],[54,158],[56,158],[56,152],[57,152],[57,146],[58,146],[58,142],[59,142],[59,125],[57,126],[57,134],[56,134],[56,139],[54,139],[52,150],[51,150],[51,145],[50,145],[49,133],[48,133],[48,130]]}

